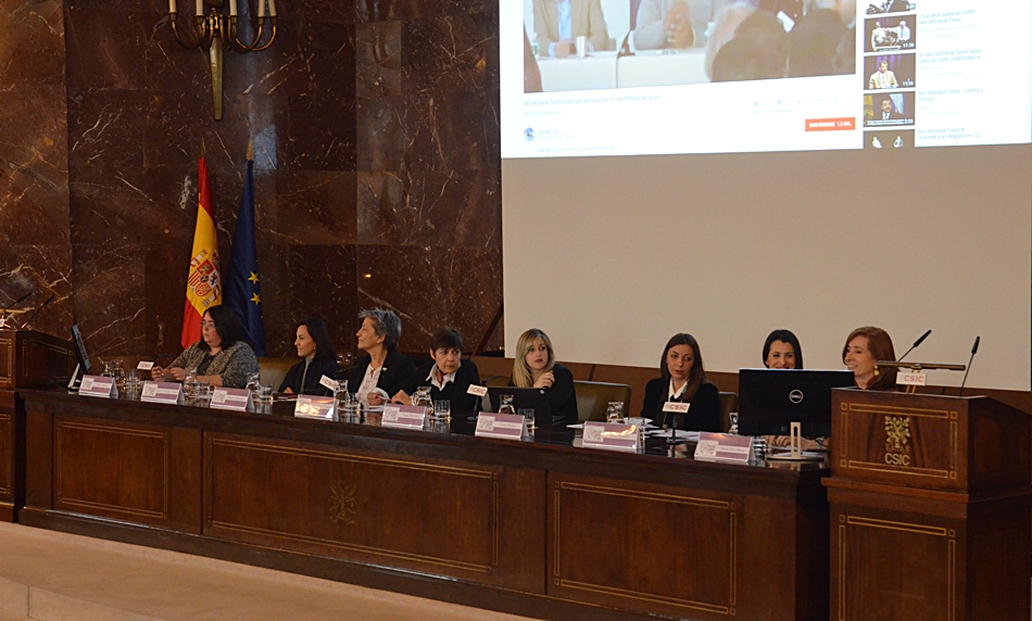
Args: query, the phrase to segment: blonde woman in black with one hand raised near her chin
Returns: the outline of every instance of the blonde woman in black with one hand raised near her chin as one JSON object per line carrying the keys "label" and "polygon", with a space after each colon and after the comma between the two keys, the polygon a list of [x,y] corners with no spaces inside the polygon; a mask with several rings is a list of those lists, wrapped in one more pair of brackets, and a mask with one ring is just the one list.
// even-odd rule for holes
{"label": "blonde woman in black with one hand raised near her chin", "polygon": [[[577,392],[574,373],[555,362],[555,351],[549,335],[531,328],[516,341],[516,360],[509,385],[545,389],[552,407],[552,428],[565,429],[577,422]],[[534,423],[548,427],[549,421],[536,417]]]}

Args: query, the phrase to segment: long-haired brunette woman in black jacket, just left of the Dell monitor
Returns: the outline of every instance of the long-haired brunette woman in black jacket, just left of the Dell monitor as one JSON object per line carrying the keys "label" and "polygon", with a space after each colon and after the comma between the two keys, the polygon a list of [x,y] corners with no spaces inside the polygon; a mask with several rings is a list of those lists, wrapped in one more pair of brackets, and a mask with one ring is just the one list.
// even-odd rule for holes
{"label": "long-haired brunette woman in black jacket, just left of the Dell monitor", "polygon": [[[663,411],[669,401],[690,403],[688,414]],[[687,431],[723,431],[717,386],[706,380],[702,352],[691,334],[675,334],[659,358],[659,377],[645,384],[641,415],[666,429],[676,422]]]}

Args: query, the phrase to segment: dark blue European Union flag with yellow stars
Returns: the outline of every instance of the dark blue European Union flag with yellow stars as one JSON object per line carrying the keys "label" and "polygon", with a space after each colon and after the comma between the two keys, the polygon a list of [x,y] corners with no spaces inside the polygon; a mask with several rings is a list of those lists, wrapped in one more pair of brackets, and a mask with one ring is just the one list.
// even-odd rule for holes
{"label": "dark blue European Union flag with yellow stars", "polygon": [[254,354],[265,355],[265,324],[262,321],[262,284],[254,243],[254,162],[248,147],[248,178],[240,197],[237,230],[232,233],[229,268],[223,278],[223,304],[232,308],[248,332]]}

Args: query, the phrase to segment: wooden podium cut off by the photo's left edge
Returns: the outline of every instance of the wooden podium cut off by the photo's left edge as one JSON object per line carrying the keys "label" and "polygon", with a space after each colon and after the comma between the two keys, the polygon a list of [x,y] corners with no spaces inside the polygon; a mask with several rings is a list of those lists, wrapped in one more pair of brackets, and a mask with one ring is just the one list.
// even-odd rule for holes
{"label": "wooden podium cut off by the photo's left edge", "polygon": [[25,504],[25,410],[16,389],[64,385],[72,343],[33,330],[0,329],[0,520],[15,521]]}

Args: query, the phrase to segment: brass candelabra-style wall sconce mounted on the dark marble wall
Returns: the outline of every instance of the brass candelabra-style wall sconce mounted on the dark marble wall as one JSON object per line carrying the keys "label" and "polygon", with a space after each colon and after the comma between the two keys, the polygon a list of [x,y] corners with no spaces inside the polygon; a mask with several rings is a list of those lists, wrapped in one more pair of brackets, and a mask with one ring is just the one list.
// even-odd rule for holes
{"label": "brass candelabra-style wall sconce mounted on the dark marble wall", "polygon": [[[247,2],[248,0],[244,0]],[[172,22],[172,31],[176,41],[188,50],[203,47],[207,50],[209,64],[212,69],[212,101],[215,105],[215,121],[223,117],[223,51],[225,49],[239,52],[261,52],[276,40],[276,0],[259,0],[257,33],[251,43],[244,43],[237,38],[237,0],[229,0],[229,14],[225,13],[226,0],[194,0],[197,28],[192,35],[192,42],[184,41],[176,25],[176,0],[168,0],[168,17]],[[207,14],[205,14],[205,4]],[[259,46],[265,36],[265,24],[269,25],[268,40]]]}

